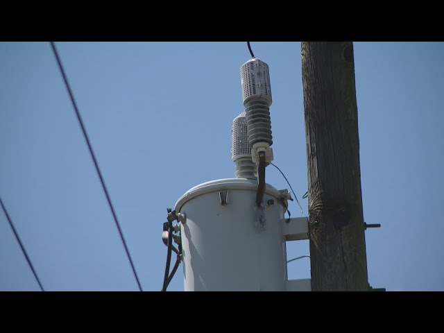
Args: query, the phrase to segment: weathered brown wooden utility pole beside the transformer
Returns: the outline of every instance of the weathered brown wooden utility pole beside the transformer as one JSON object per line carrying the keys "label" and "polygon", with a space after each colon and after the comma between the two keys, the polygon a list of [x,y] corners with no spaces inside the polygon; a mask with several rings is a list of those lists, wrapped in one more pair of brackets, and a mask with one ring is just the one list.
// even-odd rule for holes
{"label": "weathered brown wooden utility pole beside the transformer", "polygon": [[368,291],[352,42],[302,42],[312,291]]}

